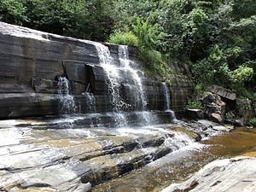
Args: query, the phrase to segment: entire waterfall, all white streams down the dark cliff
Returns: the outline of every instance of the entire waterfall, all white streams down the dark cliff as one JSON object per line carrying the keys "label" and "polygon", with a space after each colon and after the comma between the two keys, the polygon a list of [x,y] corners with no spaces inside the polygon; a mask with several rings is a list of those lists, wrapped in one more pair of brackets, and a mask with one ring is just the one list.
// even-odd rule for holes
{"label": "entire waterfall, all white streams down the dark cliff", "polygon": [[[137,67],[137,62],[129,58],[128,46],[118,45],[117,58],[113,59],[108,46],[104,44],[90,42],[96,47],[100,61],[100,66],[104,70],[108,82],[108,92],[106,98],[110,103],[110,110],[107,116],[98,117],[95,122],[104,122],[112,116],[113,126],[121,127],[131,125],[155,125],[160,122],[157,115],[147,111],[148,98],[143,90],[143,72]],[[162,83],[165,96],[165,110],[171,119],[175,118],[175,113],[170,109],[171,96],[166,83]],[[87,113],[96,113],[96,98],[90,92],[84,92],[84,106]],[[60,77],[58,82],[58,98],[60,113],[75,113],[76,110],[73,96],[70,94],[68,79]],[[81,102],[81,101],[79,101]],[[82,105],[81,105],[82,106]],[[82,107],[83,108],[83,107]],[[133,111],[129,115],[126,111]],[[111,118],[109,118],[111,119]]]}

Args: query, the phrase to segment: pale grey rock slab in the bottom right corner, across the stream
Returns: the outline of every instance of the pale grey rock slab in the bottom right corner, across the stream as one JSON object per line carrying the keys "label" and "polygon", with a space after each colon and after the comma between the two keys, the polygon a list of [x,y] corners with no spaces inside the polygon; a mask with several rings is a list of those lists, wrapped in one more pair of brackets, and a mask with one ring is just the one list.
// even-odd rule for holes
{"label": "pale grey rock slab in the bottom right corner, across the stream", "polygon": [[256,191],[256,158],[215,160],[184,183],[173,183],[162,192]]}

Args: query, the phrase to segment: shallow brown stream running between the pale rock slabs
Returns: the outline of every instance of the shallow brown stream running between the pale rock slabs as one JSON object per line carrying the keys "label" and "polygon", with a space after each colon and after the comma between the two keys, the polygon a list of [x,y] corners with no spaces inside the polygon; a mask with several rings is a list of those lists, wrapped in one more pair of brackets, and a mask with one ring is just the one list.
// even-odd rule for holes
{"label": "shallow brown stream running between the pale rock slabs", "polygon": [[153,192],[182,182],[212,160],[237,155],[256,156],[256,128],[237,127],[188,148],[180,149],[148,166],[96,186],[93,191]]}

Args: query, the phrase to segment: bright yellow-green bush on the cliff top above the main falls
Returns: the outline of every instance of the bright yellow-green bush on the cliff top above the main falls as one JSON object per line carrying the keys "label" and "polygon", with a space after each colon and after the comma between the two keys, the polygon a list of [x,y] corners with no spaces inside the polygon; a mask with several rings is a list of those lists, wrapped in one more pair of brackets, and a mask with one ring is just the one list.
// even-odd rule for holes
{"label": "bright yellow-green bush on the cliff top above the main falls", "polygon": [[138,38],[132,32],[113,32],[110,35],[109,43],[138,46]]}

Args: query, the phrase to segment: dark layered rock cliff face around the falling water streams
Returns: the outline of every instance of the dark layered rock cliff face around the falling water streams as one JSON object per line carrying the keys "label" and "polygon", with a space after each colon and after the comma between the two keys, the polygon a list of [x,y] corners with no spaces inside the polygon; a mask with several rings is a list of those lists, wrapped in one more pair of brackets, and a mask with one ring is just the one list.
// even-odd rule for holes
{"label": "dark layered rock cliff face around the falling water streams", "polygon": [[[113,58],[111,62],[120,66],[119,46],[101,46],[108,47]],[[137,49],[128,48],[128,51],[129,61],[132,61],[139,73]],[[109,91],[109,84],[113,82],[109,80],[106,68],[102,67],[101,59],[99,43],[0,22],[0,119],[59,114],[60,77],[68,79],[68,89],[73,96],[76,112],[91,112],[88,102],[84,102],[90,100],[90,94],[95,100],[94,112],[110,111],[113,108],[113,100],[109,97],[113,92]],[[174,68],[177,75],[173,76],[172,87],[168,91],[172,93],[172,108],[180,109],[189,94],[191,81],[186,74],[186,67]],[[134,96],[131,95],[134,93],[133,85],[137,85],[130,76],[131,71],[121,70],[119,82],[114,82],[118,84],[122,101],[128,103],[128,106],[134,102]],[[140,79],[147,100],[145,106],[121,109],[164,110],[166,97],[163,84],[145,79],[143,74]]]}

